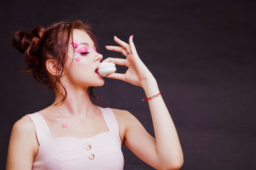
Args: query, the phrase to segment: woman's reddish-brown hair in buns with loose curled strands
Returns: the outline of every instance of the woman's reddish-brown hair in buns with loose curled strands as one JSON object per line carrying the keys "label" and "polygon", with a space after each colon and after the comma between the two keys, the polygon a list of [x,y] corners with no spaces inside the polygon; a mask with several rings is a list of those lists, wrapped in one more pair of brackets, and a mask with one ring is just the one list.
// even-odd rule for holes
{"label": "woman's reddish-brown hair in buns with loose curled strands", "polygon": [[[24,59],[28,67],[20,67],[23,69],[22,73],[32,73],[34,78],[48,87],[49,89],[56,89],[56,83],[59,82],[61,87],[65,90],[63,99],[57,104],[63,104],[67,98],[67,90],[60,82],[60,77],[63,74],[63,67],[67,60],[68,52],[68,41],[73,40],[73,30],[82,29],[88,36],[92,39],[96,46],[97,51],[99,51],[99,46],[97,45],[95,31],[92,26],[84,24],[81,20],[76,20],[74,22],[58,22],[52,24],[51,26],[44,29],[42,26],[37,26],[32,29],[31,32],[18,31],[12,37],[12,43],[19,52],[24,53]],[[57,73],[56,80],[53,82],[50,78],[49,72],[46,69],[46,61],[48,59],[54,59],[57,62]],[[102,106],[102,101],[99,97],[95,96],[92,92],[93,87],[88,88],[89,96],[94,97],[100,101]]]}

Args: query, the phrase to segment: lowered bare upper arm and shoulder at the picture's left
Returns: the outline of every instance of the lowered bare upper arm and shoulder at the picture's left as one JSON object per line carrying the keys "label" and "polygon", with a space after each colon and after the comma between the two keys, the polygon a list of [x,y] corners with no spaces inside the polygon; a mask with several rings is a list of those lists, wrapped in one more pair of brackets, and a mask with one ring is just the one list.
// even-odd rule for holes
{"label": "lowered bare upper arm and shoulder at the picture's left", "polygon": [[20,118],[12,127],[6,170],[32,169],[32,164],[37,152],[35,127],[29,117]]}

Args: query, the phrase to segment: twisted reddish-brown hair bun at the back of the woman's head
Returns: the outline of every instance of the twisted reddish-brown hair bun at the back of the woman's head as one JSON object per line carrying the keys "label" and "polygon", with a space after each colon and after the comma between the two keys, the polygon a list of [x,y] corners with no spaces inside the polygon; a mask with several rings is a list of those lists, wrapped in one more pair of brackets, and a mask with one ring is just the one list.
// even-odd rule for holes
{"label": "twisted reddish-brown hair bun at the back of the woman's head", "polygon": [[29,47],[29,50],[38,49],[44,31],[45,29],[42,26],[34,27],[31,32],[18,31],[12,37],[12,44],[21,53],[25,53]]}

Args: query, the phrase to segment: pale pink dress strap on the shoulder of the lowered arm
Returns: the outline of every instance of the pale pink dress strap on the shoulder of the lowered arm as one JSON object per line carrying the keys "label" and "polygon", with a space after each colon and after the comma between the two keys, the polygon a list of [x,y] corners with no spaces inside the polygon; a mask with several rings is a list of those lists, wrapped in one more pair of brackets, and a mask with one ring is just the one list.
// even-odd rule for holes
{"label": "pale pink dress strap on the shoulder of the lowered arm", "polygon": [[31,113],[27,115],[35,125],[36,138],[38,139],[39,145],[45,143],[49,138],[51,138],[51,132],[44,120],[44,117],[40,113]]}

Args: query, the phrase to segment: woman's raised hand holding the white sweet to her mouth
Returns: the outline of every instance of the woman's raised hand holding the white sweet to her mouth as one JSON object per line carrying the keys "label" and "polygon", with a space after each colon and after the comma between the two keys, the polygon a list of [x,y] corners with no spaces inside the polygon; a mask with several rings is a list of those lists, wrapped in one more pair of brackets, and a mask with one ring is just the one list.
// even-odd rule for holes
{"label": "woman's raised hand holding the white sweet to her mouth", "polygon": [[[118,80],[123,80],[131,83],[132,85],[137,85],[143,87],[143,85],[148,81],[153,79],[154,76],[145,64],[141,61],[134,43],[132,41],[133,36],[129,37],[129,44],[125,43],[121,39],[118,39],[114,36],[114,40],[120,46],[106,46],[107,50],[120,52],[126,56],[126,59],[118,59],[118,58],[107,58],[104,62],[114,62],[115,64],[128,67],[126,73],[111,73],[106,76],[107,78],[115,78]],[[127,54],[128,53],[128,54]]]}

